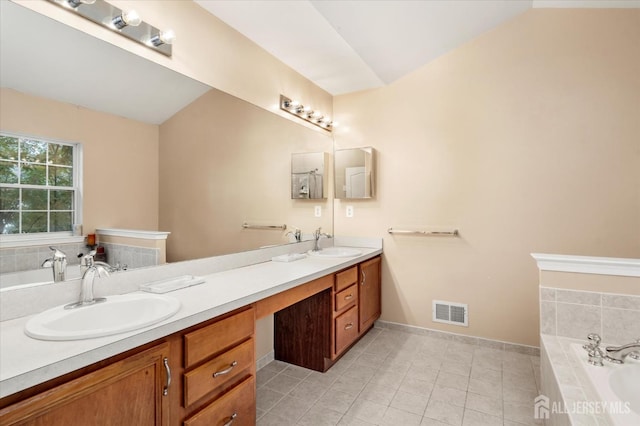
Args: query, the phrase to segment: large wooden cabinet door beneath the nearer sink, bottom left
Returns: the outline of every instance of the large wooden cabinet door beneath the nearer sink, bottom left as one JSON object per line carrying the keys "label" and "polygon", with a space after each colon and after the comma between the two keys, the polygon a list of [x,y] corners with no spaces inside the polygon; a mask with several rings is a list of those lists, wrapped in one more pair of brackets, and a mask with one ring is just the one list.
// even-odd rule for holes
{"label": "large wooden cabinet door beneath the nearer sink, bottom left", "polygon": [[0,412],[2,425],[167,425],[164,359],[169,344],[118,361],[100,370],[20,401]]}

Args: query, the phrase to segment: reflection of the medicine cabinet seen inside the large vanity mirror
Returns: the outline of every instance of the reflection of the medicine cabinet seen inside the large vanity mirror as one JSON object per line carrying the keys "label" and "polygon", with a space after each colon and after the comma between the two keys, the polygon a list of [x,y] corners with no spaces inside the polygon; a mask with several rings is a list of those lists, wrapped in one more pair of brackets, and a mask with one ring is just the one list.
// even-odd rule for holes
{"label": "reflection of the medicine cabinet seen inside the large vanity mirror", "polygon": [[291,154],[291,198],[327,198],[328,166],[326,152]]}

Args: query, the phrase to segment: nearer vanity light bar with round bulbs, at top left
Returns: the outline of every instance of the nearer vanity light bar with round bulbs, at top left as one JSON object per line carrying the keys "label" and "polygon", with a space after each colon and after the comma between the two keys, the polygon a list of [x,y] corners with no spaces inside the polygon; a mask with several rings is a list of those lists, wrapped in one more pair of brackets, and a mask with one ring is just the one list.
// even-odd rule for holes
{"label": "nearer vanity light bar with round bulbs, at top left", "polygon": [[[1,1],[1,0],[0,0]],[[172,30],[162,31],[142,20],[135,10],[124,11],[104,0],[48,0],[102,27],[108,28],[149,49],[171,56],[176,36]]]}

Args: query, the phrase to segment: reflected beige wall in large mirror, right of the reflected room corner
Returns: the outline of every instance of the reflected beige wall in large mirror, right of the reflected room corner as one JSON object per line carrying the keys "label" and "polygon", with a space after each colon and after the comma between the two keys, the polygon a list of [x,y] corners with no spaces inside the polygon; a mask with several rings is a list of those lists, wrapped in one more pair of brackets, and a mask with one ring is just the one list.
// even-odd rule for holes
{"label": "reflected beige wall in large mirror, right of the reflected room corner", "polygon": [[[218,90],[201,96],[160,126],[160,229],[171,231],[167,260],[283,244],[295,227],[330,230],[330,185],[327,199],[292,200],[291,154],[332,148],[328,134]],[[321,206],[321,217],[314,206]],[[245,221],[288,229],[243,229]]]}

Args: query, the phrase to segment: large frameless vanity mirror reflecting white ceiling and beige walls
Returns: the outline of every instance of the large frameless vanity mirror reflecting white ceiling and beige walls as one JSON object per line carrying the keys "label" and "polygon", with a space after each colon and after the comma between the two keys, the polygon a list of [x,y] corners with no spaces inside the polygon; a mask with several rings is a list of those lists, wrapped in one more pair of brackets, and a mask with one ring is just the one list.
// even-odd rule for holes
{"label": "large frameless vanity mirror reflecting white ceiling and beige walls", "polygon": [[[85,234],[168,231],[167,261],[175,262],[291,241],[286,231],[245,229],[245,222],[303,233],[333,228],[332,215],[315,217],[289,188],[292,153],[333,151],[325,131],[20,4],[0,7],[0,130],[83,144]],[[88,70],[75,68],[83,64]],[[332,210],[331,199],[318,204]],[[22,266],[24,254],[39,267],[47,246],[9,249],[13,257],[0,266]]]}

